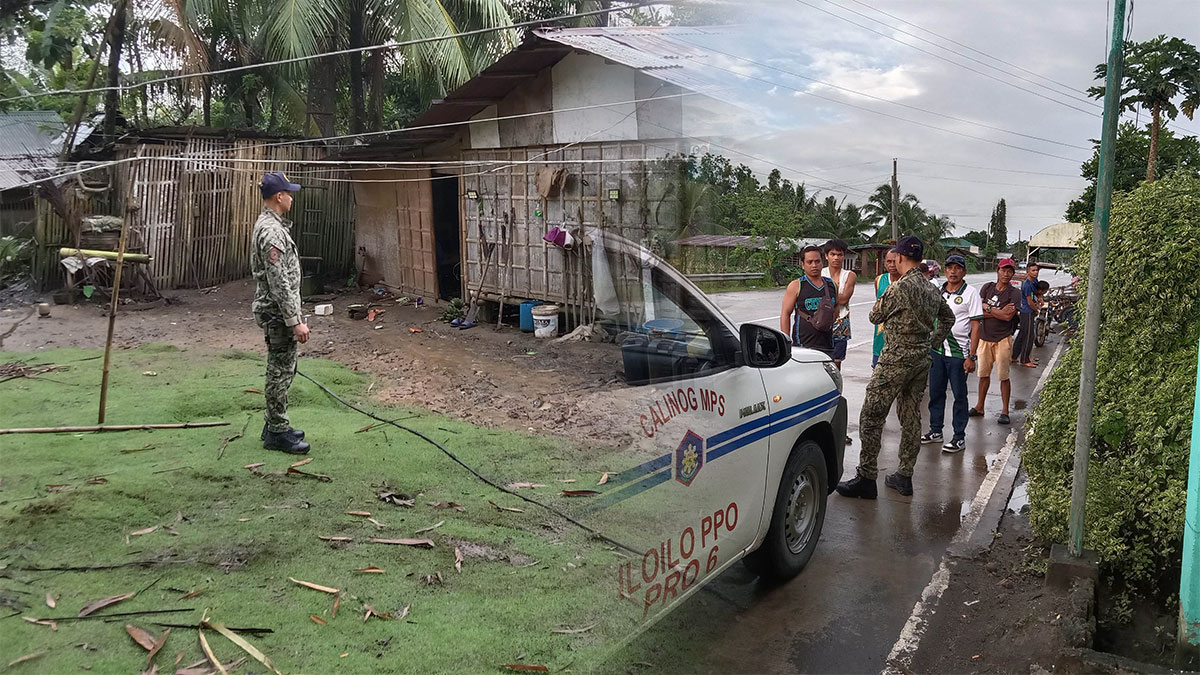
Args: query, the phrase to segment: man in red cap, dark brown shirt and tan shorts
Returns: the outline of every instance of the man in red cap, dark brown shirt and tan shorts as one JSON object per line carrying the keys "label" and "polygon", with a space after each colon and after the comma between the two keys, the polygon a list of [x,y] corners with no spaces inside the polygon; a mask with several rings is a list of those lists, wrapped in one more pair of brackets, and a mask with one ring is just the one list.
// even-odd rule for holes
{"label": "man in red cap, dark brown shirt and tan shorts", "polygon": [[1000,400],[1003,412],[997,420],[1008,424],[1008,396],[1012,383],[1008,381],[1008,365],[1013,358],[1013,317],[1016,316],[1016,304],[1021,301],[1020,292],[1013,287],[1013,274],[1016,263],[1013,258],[1000,261],[996,281],[983,285],[979,297],[983,299],[983,322],[979,324],[979,402],[968,411],[970,417],[983,417],[983,404],[991,384],[991,366],[996,366],[1000,378]]}

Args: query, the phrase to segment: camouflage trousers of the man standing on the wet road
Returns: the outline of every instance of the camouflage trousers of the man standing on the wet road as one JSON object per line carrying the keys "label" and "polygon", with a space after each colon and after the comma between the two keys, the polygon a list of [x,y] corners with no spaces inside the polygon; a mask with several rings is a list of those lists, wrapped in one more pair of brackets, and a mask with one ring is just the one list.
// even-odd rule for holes
{"label": "camouflage trousers of the man standing on the wet road", "polygon": [[883,420],[892,402],[896,401],[900,417],[900,474],[912,476],[920,450],[920,398],[929,382],[929,350],[900,351],[884,346],[878,365],[866,386],[866,399],[858,419],[858,474],[875,480],[878,476],[880,446],[883,443]]}

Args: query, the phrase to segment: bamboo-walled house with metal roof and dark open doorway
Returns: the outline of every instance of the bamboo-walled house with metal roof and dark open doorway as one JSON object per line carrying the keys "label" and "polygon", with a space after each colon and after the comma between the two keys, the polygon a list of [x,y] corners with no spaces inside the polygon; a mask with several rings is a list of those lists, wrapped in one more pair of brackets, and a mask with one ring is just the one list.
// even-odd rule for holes
{"label": "bamboo-walled house with metal roof and dark open doorway", "polygon": [[544,240],[552,228],[665,253],[682,227],[673,160],[745,114],[737,77],[697,44],[714,31],[726,29],[536,29],[407,130],[343,151],[415,162],[354,185],[362,280],[570,307],[590,301],[590,280],[580,247]]}

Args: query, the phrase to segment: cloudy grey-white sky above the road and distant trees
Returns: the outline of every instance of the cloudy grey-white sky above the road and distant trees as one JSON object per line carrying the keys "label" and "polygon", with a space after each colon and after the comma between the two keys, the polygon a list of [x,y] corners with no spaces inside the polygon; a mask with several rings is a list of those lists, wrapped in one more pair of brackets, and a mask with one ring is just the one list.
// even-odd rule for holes
{"label": "cloudy grey-white sky above the road and distant trees", "polygon": [[[731,159],[762,173],[788,167],[797,181],[862,203],[898,157],[901,190],[960,233],[984,228],[1007,199],[1012,239],[1060,222],[1082,190],[1080,163],[1102,119],[1084,90],[1106,59],[1111,0],[745,6],[749,36],[696,38],[728,54],[714,67],[739,73],[762,112],[736,147],[766,161]],[[1159,34],[1200,44],[1200,4],[1136,1],[1130,38]],[[1194,133],[1200,120],[1175,127]]]}

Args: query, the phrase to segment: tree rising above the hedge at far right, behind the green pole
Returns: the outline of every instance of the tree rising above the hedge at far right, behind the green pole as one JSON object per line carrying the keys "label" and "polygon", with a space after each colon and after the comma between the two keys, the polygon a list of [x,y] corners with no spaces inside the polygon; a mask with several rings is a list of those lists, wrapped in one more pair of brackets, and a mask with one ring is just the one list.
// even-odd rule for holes
{"label": "tree rising above the hedge at far right, behind the green pole", "polygon": [[[1146,42],[1126,42],[1124,71],[1121,76],[1121,107],[1150,112],[1150,159],[1146,180],[1154,180],[1158,159],[1158,132],[1163,117],[1174,120],[1182,112],[1189,120],[1200,106],[1200,50],[1178,37],[1159,35]],[[1096,77],[1108,76],[1108,64],[1096,66]],[[1087,90],[1096,98],[1104,97],[1104,86]],[[1178,104],[1176,98],[1182,100]]]}

